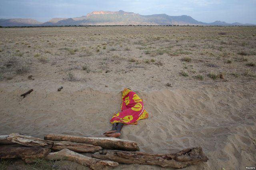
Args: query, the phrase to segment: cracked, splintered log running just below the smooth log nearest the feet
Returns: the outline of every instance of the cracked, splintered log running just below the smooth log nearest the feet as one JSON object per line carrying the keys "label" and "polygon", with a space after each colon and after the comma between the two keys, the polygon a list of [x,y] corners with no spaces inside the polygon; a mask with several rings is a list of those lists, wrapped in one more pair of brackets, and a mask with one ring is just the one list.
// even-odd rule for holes
{"label": "cracked, splintered log running just below the smooth log nearest the feet", "polygon": [[62,150],[64,148],[68,148],[75,152],[84,152],[84,153],[85,152],[94,153],[94,152],[98,152],[99,150],[102,150],[102,147],[94,146],[92,144],[66,142],[66,141],[56,142],[56,141],[50,141],[50,140],[43,140],[40,138],[34,138],[32,136],[27,136],[25,134],[19,134],[19,133],[9,134],[9,136],[7,137],[7,140],[10,140],[14,143],[22,144],[25,146],[43,147],[43,148],[48,148],[52,150]]}

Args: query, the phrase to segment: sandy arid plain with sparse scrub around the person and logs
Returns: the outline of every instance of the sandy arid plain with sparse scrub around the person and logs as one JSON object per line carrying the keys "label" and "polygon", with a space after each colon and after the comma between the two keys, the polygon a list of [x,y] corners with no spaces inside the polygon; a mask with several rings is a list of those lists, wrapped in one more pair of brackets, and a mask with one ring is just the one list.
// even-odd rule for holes
{"label": "sandy arid plain with sparse scrub around the person and logs", "polygon": [[[104,137],[128,87],[149,118],[120,138],[140,151],[201,146],[208,162],[187,170],[256,166],[256,27],[0,28],[0,37],[0,135]],[[62,162],[54,168],[84,168]]]}

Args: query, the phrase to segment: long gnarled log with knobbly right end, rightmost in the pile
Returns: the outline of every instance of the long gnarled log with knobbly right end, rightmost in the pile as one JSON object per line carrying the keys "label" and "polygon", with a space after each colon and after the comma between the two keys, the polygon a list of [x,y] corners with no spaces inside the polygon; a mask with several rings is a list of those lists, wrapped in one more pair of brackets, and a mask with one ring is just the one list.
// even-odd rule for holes
{"label": "long gnarled log with knobbly right end, rightmost in the pile", "polygon": [[128,164],[149,164],[162,167],[184,168],[198,162],[207,162],[202,148],[187,148],[175,154],[150,154],[120,150],[102,150],[92,154],[93,158],[112,160]]}

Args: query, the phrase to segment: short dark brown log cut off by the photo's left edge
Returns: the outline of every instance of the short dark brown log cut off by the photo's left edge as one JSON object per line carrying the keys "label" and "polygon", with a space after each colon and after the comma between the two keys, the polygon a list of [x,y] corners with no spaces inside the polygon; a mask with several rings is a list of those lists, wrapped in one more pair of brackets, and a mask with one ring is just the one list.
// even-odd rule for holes
{"label": "short dark brown log cut off by the photo's left edge", "polygon": [[0,147],[0,158],[43,158],[50,152],[40,147]]}

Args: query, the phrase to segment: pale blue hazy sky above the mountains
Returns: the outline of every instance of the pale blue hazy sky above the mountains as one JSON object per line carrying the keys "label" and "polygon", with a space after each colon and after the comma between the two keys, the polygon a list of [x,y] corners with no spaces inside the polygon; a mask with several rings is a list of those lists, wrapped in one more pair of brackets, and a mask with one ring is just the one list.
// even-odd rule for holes
{"label": "pale blue hazy sky above the mountains", "polygon": [[40,22],[103,10],[188,15],[208,23],[220,20],[256,24],[256,0],[0,0],[0,18],[31,18]]}

